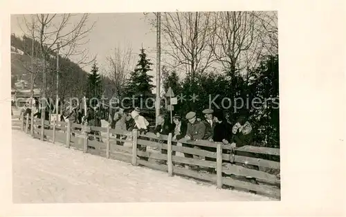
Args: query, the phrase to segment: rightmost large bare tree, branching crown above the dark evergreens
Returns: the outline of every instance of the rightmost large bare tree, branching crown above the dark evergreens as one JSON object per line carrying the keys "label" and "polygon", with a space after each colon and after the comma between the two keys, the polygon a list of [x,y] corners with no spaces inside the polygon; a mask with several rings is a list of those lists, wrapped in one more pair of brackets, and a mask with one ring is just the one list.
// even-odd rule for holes
{"label": "rightmost large bare tree, branching crown above the dark evergreens", "polygon": [[257,66],[264,55],[275,52],[275,43],[277,48],[275,23],[273,12],[215,12],[209,40],[215,59],[230,73]]}

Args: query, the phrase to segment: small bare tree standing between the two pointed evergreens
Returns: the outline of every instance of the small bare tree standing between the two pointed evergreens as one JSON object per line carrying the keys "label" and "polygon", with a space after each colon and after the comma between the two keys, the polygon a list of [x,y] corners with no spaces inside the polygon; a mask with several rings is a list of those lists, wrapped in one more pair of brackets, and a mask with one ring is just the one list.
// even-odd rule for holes
{"label": "small bare tree standing between the two pointed evergreens", "polygon": [[134,58],[132,48],[121,49],[115,48],[113,55],[107,57],[108,68],[107,75],[111,79],[113,95],[120,97],[124,88],[124,84],[130,71],[134,69]]}

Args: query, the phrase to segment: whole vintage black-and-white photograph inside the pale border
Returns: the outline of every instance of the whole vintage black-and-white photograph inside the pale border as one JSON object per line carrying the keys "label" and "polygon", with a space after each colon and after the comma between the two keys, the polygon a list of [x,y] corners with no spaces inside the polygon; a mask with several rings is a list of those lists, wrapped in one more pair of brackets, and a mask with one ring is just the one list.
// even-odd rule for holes
{"label": "whole vintage black-and-white photograph inside the pale border", "polygon": [[277,11],[10,19],[14,203],[280,200]]}

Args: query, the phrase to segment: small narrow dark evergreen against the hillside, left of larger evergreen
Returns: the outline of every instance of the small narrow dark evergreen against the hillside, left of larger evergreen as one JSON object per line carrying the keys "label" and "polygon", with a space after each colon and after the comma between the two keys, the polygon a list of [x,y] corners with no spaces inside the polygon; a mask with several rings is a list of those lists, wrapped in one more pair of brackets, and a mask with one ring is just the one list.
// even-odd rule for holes
{"label": "small narrow dark evergreen against the hillside, left of larger evergreen", "polygon": [[[89,86],[86,90],[86,97],[89,98],[89,100],[93,97],[98,98],[100,100],[101,94],[102,94],[102,83],[101,83],[101,77],[98,73],[98,66],[96,66],[96,63],[93,64],[91,68],[91,74],[88,76],[88,83]],[[95,106],[97,102],[93,100],[92,106]]]}

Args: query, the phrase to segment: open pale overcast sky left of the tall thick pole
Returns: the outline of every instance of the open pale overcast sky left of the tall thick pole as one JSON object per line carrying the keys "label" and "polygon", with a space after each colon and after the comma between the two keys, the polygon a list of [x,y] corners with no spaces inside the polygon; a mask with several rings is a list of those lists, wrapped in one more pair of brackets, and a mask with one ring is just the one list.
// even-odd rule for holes
{"label": "open pale overcast sky left of the tall thick pole", "polygon": [[[151,16],[154,17],[154,14]],[[19,27],[24,26],[22,17],[23,15],[11,16],[11,33],[23,35],[23,31]],[[78,18],[80,15],[73,17],[73,20],[78,21]],[[89,43],[83,48],[89,49],[90,58],[97,55],[97,62],[102,73],[107,66],[106,58],[111,55],[113,48],[119,46],[127,48],[130,44],[133,52],[138,54],[143,44],[143,48],[147,49],[148,56],[154,64],[150,74],[155,75],[156,32],[152,31],[154,29],[145,20],[143,13],[91,14],[88,25],[91,26],[94,21],[95,26],[87,36]],[[134,57],[137,61],[138,55]],[[73,57],[73,59],[75,58],[78,57]],[[89,72],[91,67],[86,66],[84,70]]]}

